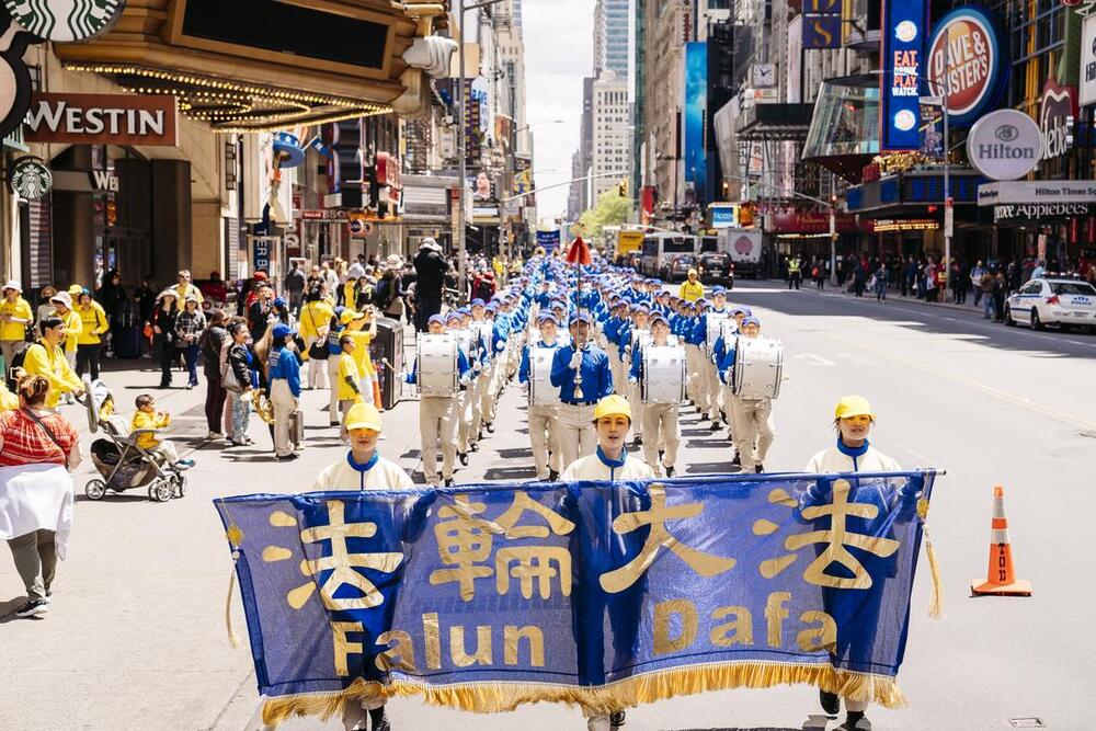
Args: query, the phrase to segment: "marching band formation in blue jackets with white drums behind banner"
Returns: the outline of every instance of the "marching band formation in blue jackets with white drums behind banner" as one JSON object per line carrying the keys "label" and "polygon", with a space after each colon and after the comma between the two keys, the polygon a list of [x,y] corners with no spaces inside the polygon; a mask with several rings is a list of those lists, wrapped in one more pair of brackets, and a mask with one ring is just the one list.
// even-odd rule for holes
{"label": "marching band formation in blue jackets with white drums behind banner", "polygon": [[[419,388],[426,482],[453,484],[499,398],[516,376],[528,398],[529,446],[538,480],[557,480],[594,455],[595,411],[606,397],[628,407],[635,445],[652,477],[673,477],[678,418],[692,404],[712,432],[726,424],[732,465],[764,470],[776,436],[784,346],[764,338],[749,307],[675,297],[658,279],[595,263],[574,267],[538,252],[491,301],[430,319],[409,384]],[[438,473],[441,452],[441,473]]]}

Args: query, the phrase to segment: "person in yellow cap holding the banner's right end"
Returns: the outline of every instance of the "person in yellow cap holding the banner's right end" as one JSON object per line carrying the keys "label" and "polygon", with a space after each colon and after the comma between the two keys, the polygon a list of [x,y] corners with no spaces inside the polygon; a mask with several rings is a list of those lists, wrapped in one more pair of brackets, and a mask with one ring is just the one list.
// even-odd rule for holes
{"label": "person in yellow cap holding the banner's right end", "polygon": [[[807,462],[803,471],[812,475],[823,475],[827,472],[898,472],[902,467],[897,460],[888,457],[876,449],[868,441],[871,426],[875,424],[876,414],[871,410],[871,404],[863,396],[846,396],[842,398],[834,409],[833,424],[837,431],[837,443],[829,449],[823,449]],[[917,495],[905,490],[889,491],[888,482],[883,480],[854,480],[852,489],[855,495],[850,494],[849,502],[870,503],[878,509],[878,514],[872,518],[872,523],[890,519],[890,514],[894,510],[915,510]],[[907,483],[909,484],[909,483]],[[800,507],[826,503],[830,500],[827,488],[815,484],[809,489],[800,499]],[[895,494],[897,492],[897,494]],[[867,518],[863,519],[867,523]],[[854,527],[849,527],[853,530]],[[876,532],[868,525],[860,530],[856,526],[857,533],[876,535]],[[864,616],[872,616],[878,613],[881,602],[881,582],[877,582],[874,589],[866,592],[849,592],[842,590],[823,589],[823,605],[826,613],[837,620],[838,626],[846,623],[855,623],[859,613]],[[843,640],[838,632],[836,653],[843,658],[853,655],[853,641]],[[834,693],[819,690],[819,699],[823,710],[830,716],[841,712],[841,698]],[[871,722],[865,718],[868,703],[864,700],[852,700],[845,698],[845,710],[847,716],[841,729],[845,731],[870,731]]]}

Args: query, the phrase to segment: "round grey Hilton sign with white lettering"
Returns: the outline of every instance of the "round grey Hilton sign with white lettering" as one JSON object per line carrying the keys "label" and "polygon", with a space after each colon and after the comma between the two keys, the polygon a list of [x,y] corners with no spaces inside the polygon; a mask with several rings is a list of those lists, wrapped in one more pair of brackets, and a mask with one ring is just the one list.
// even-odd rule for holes
{"label": "round grey Hilton sign with white lettering", "polygon": [[1042,157],[1042,130],[1017,110],[997,110],[974,123],[967,137],[971,165],[990,180],[1016,180]]}

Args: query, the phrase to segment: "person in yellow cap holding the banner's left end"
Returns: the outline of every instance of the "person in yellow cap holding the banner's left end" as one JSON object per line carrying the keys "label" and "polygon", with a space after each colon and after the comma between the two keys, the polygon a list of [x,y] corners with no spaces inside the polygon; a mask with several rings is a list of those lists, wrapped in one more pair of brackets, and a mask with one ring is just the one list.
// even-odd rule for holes
{"label": "person in yellow cap holding the banner's left end", "polygon": [[[349,338],[346,342],[353,344],[354,339]],[[345,457],[320,471],[312,490],[400,490],[414,487],[403,468],[381,457],[377,450],[383,425],[376,407],[355,403],[346,412],[345,425],[350,432],[350,450]],[[342,721],[347,729],[365,729],[366,723],[373,731],[390,731],[392,728],[385,718],[383,696],[347,701],[343,706]]]}

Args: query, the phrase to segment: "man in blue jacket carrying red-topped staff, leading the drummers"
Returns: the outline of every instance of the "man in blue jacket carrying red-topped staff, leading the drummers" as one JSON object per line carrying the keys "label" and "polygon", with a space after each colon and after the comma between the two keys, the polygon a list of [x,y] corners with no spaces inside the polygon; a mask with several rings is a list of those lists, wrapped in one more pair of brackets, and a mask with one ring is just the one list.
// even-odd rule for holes
{"label": "man in blue jacket carrying red-topped staff, leading the drummers", "polygon": [[[613,373],[605,351],[590,342],[590,315],[571,319],[571,344],[556,351],[551,385],[559,388],[559,450],[564,467],[594,453],[594,404],[613,393]],[[581,381],[575,382],[575,377]]]}

